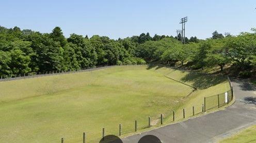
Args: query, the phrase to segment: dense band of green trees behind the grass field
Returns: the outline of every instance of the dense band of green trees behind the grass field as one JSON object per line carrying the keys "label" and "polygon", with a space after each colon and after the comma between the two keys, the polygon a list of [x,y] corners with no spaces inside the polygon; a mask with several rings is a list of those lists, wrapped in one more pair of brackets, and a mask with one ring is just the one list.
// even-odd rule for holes
{"label": "dense band of green trees behind the grass field", "polygon": [[[190,69],[218,68],[241,77],[255,74],[256,30],[237,36],[214,31],[212,37],[172,37],[149,33],[113,40],[108,37],[71,34],[60,27],[51,33],[0,26],[0,76],[45,71],[78,70],[98,65],[157,63]],[[223,71],[225,70],[225,71]]]}

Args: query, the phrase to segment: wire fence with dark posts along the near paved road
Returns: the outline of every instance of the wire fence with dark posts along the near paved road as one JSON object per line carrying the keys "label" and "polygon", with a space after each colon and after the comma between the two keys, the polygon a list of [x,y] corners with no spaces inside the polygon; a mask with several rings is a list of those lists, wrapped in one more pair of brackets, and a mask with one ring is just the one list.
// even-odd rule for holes
{"label": "wire fence with dark posts along the near paved road", "polygon": [[[126,124],[117,123],[115,127],[104,127],[98,129],[99,132],[90,133],[84,132],[78,135],[81,138],[81,142],[99,142],[106,135],[121,136],[124,134],[139,133],[139,131],[145,131],[152,127],[161,127],[163,124],[174,123],[182,121],[184,119],[194,117],[200,114],[205,114],[207,111],[217,110],[221,106],[225,106],[231,103],[233,100],[232,86],[231,90],[216,94],[213,96],[206,96],[202,98],[202,104],[195,106],[189,106],[186,108],[178,108],[178,110],[169,110],[168,113],[159,114],[158,116],[148,116],[140,118],[138,120],[131,120]],[[64,140],[64,138],[61,138]],[[67,142],[68,141],[67,139]]]}

